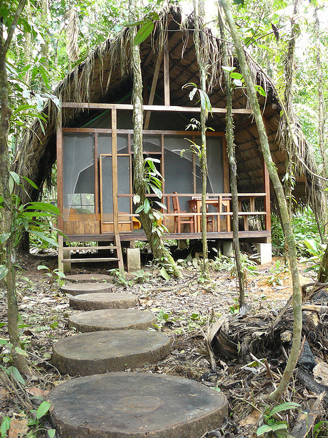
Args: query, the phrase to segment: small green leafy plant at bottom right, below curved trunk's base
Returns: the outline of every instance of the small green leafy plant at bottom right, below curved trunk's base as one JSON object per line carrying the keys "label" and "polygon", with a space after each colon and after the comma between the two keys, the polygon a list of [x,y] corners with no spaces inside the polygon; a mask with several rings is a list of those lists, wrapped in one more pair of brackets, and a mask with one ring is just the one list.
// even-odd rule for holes
{"label": "small green leafy plant at bottom right, below curved trunk's base", "polygon": [[[295,402],[286,402],[282,404],[278,404],[273,409],[266,409],[263,414],[263,421],[265,424],[262,424],[256,430],[256,435],[260,437],[261,435],[270,433],[275,433],[278,438],[288,438],[290,436],[287,433],[288,423],[282,420],[281,415],[278,415],[280,412],[289,411],[290,409],[300,408],[301,405]],[[270,435],[270,436],[271,436]]]}

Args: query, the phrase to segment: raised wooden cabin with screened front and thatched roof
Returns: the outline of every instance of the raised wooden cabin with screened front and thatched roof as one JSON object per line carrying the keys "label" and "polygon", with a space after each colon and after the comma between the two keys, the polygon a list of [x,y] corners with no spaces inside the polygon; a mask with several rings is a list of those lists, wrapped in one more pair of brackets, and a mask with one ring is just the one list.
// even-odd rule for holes
{"label": "raised wooden cabin with screened front and thatched roof", "polygon": [[[155,29],[140,46],[143,75],[144,129],[143,153],[155,159],[163,175],[161,202],[163,223],[169,239],[199,239],[202,180],[193,143],[200,145],[200,133],[191,129],[200,116],[197,99],[191,101],[187,83],[199,83],[193,42],[193,21],[182,25],[179,10],[163,14]],[[226,153],[226,96],[221,70],[220,43],[210,31],[203,34],[210,47],[208,96],[212,114],[208,117],[208,179],[206,215],[208,239],[232,240],[231,194]],[[59,256],[66,242],[133,242],[146,240],[136,206],[133,204],[133,105],[128,32],[108,40],[85,62],[74,68],[55,94],[61,98],[57,113],[49,101],[44,112],[49,124],[43,133],[36,121],[25,135],[20,153],[27,167],[16,164],[20,175],[27,175],[40,187],[57,159],[57,203],[61,211]],[[236,60],[231,57],[231,63]],[[279,131],[280,108],[271,83],[251,65],[254,81],[267,96],[260,105],[267,127],[271,154],[280,177],[285,174],[284,145]],[[239,237],[251,242],[271,242],[270,188],[258,131],[249,110],[245,90],[234,91],[236,161],[238,167]],[[213,129],[213,130],[212,130]],[[298,134],[305,166],[295,157],[296,185],[293,192],[299,205],[321,196],[320,182],[308,170],[314,159],[308,144]],[[184,153],[181,151],[184,150]],[[17,168],[20,166],[20,168]],[[29,190],[31,190],[29,188]],[[36,198],[37,193],[31,192]],[[159,201],[154,193],[150,201]],[[316,204],[318,205],[318,204]],[[160,208],[160,207],[159,207]],[[120,248],[119,248],[120,253]],[[120,258],[120,254],[119,257]],[[99,260],[105,260],[98,258]],[[96,261],[97,259],[93,259]]]}

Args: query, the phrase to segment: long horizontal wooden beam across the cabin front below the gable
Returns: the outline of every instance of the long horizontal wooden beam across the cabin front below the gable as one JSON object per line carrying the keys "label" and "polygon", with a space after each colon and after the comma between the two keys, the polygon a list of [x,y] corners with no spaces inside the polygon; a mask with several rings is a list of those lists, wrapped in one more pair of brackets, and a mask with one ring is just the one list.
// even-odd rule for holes
{"label": "long horizontal wooden beam across the cabin front below the gable", "polygon": [[[63,102],[63,108],[86,108],[88,110],[130,110],[133,105],[130,103],[87,103],[87,102]],[[180,107],[171,105],[143,105],[144,111],[163,112],[196,112],[200,113],[200,107]],[[213,113],[226,114],[226,108],[212,107]],[[232,114],[252,114],[248,108],[233,108]],[[81,129],[81,128],[80,128]]]}

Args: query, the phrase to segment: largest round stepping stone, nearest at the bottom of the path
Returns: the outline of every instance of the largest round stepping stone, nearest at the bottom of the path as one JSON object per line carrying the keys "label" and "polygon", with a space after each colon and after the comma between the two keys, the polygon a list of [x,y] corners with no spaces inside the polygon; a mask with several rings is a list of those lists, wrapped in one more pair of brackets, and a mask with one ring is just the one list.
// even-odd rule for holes
{"label": "largest round stepping stone, nearest at the bottom of the path", "polygon": [[74,378],[48,398],[61,438],[200,438],[228,417],[221,392],[165,374]]}

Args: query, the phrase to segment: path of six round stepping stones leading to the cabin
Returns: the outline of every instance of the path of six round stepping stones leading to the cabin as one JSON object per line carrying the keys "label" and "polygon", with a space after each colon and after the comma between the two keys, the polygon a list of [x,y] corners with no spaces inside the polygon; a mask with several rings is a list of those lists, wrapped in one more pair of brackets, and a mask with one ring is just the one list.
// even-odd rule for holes
{"label": "path of six round stepping stones leading to the cabin", "polygon": [[85,376],[49,393],[60,437],[200,438],[221,426],[228,415],[223,394],[186,378],[118,372],[161,361],[171,342],[161,332],[145,330],[154,315],[128,309],[137,297],[115,293],[105,277],[66,276],[77,283],[62,287],[71,307],[92,311],[69,321],[70,328],[85,333],[53,347],[52,361],[61,373]]}

